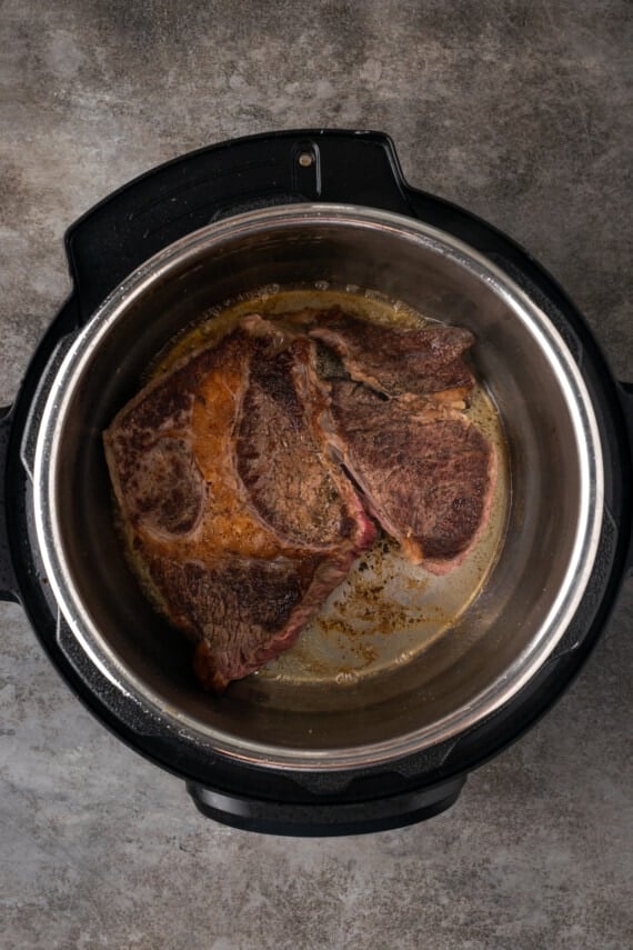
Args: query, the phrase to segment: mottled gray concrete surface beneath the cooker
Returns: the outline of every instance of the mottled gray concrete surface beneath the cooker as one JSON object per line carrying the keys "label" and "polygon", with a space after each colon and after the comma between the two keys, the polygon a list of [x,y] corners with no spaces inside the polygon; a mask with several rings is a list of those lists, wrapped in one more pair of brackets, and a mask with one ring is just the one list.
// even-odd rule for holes
{"label": "mottled gray concrete surface beneath the cooker", "polygon": [[[506,230],[633,379],[627,0],[3,0],[0,404],[68,291],[67,226],[185,150],[391,133],[411,183]],[[345,840],[204,821],[0,611],[2,948],[633,946],[633,586],[589,666],[433,821]]]}

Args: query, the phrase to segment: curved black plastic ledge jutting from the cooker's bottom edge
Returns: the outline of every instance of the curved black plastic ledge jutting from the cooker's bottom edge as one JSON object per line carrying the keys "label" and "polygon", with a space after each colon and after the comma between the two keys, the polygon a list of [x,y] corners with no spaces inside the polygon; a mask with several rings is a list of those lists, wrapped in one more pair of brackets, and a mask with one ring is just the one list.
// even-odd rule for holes
{"label": "curved black plastic ledge jutting from the cooker's bottom edge", "polygon": [[371,801],[336,803],[274,802],[215,791],[195,782],[187,789],[207,818],[264,834],[333,837],[365,834],[425,821],[445,811],[459,798],[465,776],[430,788]]}

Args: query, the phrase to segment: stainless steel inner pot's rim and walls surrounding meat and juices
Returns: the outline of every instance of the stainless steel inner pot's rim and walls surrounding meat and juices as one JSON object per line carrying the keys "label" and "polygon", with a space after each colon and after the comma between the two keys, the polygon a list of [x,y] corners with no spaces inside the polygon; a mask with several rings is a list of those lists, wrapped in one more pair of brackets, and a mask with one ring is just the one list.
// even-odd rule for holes
{"label": "stainless steel inner pot's rim and walls surrounding meat and juices", "polygon": [[[101,432],[161,348],[202,312],[262,284],[315,281],[370,288],[475,333],[478,371],[508,438],[508,531],[479,597],[410,663],[329,689],[312,704],[300,687],[275,691],[274,682],[208,696],[192,677],[190,647],[154,614],[125,563]],[[237,216],[148,261],[63,346],[39,397],[36,433],[36,531],[48,581],[63,622],[115,690],[179,734],[264,767],[385,762],[481,721],[563,636],[603,517],[591,400],[542,310],[449,234],[352,206]]]}

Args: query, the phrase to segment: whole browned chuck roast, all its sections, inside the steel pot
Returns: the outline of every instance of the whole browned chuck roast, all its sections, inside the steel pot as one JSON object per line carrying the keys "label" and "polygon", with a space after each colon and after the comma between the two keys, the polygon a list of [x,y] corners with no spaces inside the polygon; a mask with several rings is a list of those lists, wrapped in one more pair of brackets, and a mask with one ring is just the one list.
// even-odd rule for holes
{"label": "whole browned chuck roast, all its sections, inside the steel pot", "polygon": [[[316,339],[352,380],[321,379]],[[368,512],[435,573],[471,550],[495,473],[491,444],[452,408],[474,384],[472,339],[339,308],[251,314],[120,411],[104,444],[132,562],[197,643],[204,687],[292,646],[373,543]]]}

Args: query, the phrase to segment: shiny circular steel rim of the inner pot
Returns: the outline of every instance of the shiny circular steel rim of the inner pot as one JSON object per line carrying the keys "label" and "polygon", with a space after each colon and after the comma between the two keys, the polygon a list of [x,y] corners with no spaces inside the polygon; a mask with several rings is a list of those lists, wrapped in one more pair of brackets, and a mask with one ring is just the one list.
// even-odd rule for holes
{"label": "shiny circular steel rim of the inner pot", "polygon": [[[396,739],[350,749],[287,749],[263,742],[241,741],[211,729],[192,716],[161,703],[155,692],[104,641],[72,583],[64,557],[63,537],[56,508],[56,479],[62,429],[73,389],[100,344],[134,300],[187,259],[208,253],[225,241],[257,236],[267,228],[345,224],[394,232],[435,253],[450,258],[471,272],[512,310],[547,357],[573,419],[577,436],[581,508],[573,550],[564,581],[553,598],[539,637],[514,658],[504,677],[482,690],[468,708]],[[536,673],[551,656],[571,622],[591,578],[604,510],[604,473],[597,421],[582,373],[561,334],[547,316],[514,281],[483,254],[451,234],[415,219],[355,204],[290,204],[250,211],[207,226],[158,252],[133,271],[98,308],[77,334],[44,393],[33,460],[36,534],[52,593],[79,646],[107,680],[125,697],[149,708],[177,733],[192,738],[232,760],[275,769],[307,771],[343,770],[402,759],[439,744],[499,710]]]}

